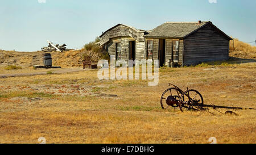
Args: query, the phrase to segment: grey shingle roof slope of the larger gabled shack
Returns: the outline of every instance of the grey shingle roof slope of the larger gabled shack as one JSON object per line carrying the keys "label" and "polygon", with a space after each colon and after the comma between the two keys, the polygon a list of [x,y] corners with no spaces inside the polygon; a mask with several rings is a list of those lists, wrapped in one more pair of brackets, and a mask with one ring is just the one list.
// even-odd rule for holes
{"label": "grey shingle roof slope of the larger gabled shack", "polygon": [[210,22],[166,22],[144,37],[185,37],[208,23]]}

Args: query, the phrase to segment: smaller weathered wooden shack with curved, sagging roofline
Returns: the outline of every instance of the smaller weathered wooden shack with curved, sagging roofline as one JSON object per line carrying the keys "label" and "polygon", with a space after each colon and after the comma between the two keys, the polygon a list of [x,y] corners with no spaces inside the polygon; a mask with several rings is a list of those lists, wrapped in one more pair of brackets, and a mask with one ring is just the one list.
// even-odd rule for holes
{"label": "smaller weathered wooden shack with curved, sagging roofline", "polygon": [[109,55],[114,55],[115,60],[142,60],[144,59],[144,34],[147,31],[117,24],[100,36],[100,44]]}

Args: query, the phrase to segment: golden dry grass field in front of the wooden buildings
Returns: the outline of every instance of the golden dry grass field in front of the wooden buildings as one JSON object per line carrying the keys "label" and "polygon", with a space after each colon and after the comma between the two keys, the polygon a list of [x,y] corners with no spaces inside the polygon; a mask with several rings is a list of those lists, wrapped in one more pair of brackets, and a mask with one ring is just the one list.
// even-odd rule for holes
{"label": "golden dry grass field in front of the wooden buildings", "polygon": [[255,110],[235,116],[160,107],[174,83],[199,90],[205,104],[256,108],[255,61],[159,72],[158,86],[99,80],[97,70],[1,78],[0,143],[256,143]]}

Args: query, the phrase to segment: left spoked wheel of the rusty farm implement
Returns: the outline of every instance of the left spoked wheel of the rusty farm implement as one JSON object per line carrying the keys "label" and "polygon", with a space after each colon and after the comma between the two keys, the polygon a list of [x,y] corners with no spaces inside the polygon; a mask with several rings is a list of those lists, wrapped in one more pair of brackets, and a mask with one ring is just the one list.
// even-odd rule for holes
{"label": "left spoked wheel of the rusty farm implement", "polygon": [[162,94],[160,103],[163,109],[167,109],[169,106],[171,107],[179,107],[179,100],[184,101],[184,97],[180,99],[182,95],[182,91],[177,90],[175,87],[171,87],[164,91]]}

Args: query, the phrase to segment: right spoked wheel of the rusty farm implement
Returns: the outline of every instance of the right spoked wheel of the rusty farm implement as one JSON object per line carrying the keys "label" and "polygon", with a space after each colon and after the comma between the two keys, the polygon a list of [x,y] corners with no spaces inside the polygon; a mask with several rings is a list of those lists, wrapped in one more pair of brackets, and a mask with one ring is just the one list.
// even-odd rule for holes
{"label": "right spoked wheel of the rusty farm implement", "polygon": [[197,90],[187,90],[180,98],[184,100],[179,100],[179,108],[181,112],[188,110],[203,110],[204,99],[202,95]]}

